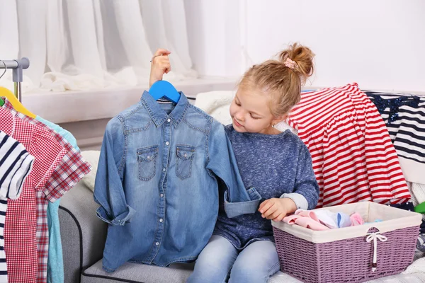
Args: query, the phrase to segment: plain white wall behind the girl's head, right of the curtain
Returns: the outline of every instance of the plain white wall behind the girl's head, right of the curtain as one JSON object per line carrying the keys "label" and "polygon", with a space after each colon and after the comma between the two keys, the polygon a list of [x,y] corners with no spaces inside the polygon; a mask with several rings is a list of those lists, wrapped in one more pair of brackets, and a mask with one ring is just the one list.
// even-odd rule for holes
{"label": "plain white wall behind the girl's head, right of the curtain", "polygon": [[316,53],[313,86],[425,91],[423,0],[186,0],[201,75],[234,76],[288,42]]}

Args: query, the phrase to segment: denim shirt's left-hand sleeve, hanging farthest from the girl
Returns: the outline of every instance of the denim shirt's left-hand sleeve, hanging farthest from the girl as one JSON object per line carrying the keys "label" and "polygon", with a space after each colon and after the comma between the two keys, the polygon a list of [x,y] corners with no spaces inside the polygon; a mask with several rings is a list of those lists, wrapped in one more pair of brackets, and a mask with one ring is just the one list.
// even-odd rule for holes
{"label": "denim shirt's left-hand sleeve, hanging farthest from the girl", "polygon": [[130,222],[135,214],[123,190],[124,152],[123,125],[115,117],[106,126],[94,185],[94,201],[101,205],[96,215],[114,226]]}

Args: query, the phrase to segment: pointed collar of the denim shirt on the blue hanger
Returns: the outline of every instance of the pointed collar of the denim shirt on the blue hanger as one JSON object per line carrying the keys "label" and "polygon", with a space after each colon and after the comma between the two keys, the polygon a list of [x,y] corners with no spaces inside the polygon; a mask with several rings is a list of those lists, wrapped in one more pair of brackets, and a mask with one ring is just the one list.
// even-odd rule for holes
{"label": "pointed collar of the denim shirt on the blue hanger", "polygon": [[171,118],[174,128],[176,128],[179,126],[181,120],[183,120],[183,117],[186,115],[186,111],[189,107],[189,101],[184,93],[181,91],[179,93],[179,102],[176,104],[171,113],[167,115],[157,100],[154,100],[154,98],[147,91],[143,92],[140,102],[145,106],[147,112],[149,112],[149,115],[152,118],[152,121],[154,121],[157,127],[161,126],[162,123],[164,123],[168,118]]}

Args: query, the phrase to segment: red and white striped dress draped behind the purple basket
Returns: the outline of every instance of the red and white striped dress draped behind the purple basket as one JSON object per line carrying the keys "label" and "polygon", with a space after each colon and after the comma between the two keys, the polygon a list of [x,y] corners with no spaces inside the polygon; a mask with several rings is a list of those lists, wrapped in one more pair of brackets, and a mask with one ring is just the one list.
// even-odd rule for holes
{"label": "red and white striped dress draped behind the purple basket", "polygon": [[357,83],[302,93],[287,122],[312,155],[317,207],[410,199],[387,127]]}

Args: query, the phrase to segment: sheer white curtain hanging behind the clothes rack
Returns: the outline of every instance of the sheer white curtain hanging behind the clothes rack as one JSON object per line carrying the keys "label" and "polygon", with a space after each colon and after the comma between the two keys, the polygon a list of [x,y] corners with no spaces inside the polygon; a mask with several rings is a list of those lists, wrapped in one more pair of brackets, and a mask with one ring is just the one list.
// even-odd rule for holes
{"label": "sheer white curtain hanging behind the clothes rack", "polygon": [[171,50],[164,79],[197,76],[183,0],[0,0],[0,59],[30,59],[24,91],[147,84],[158,48]]}

